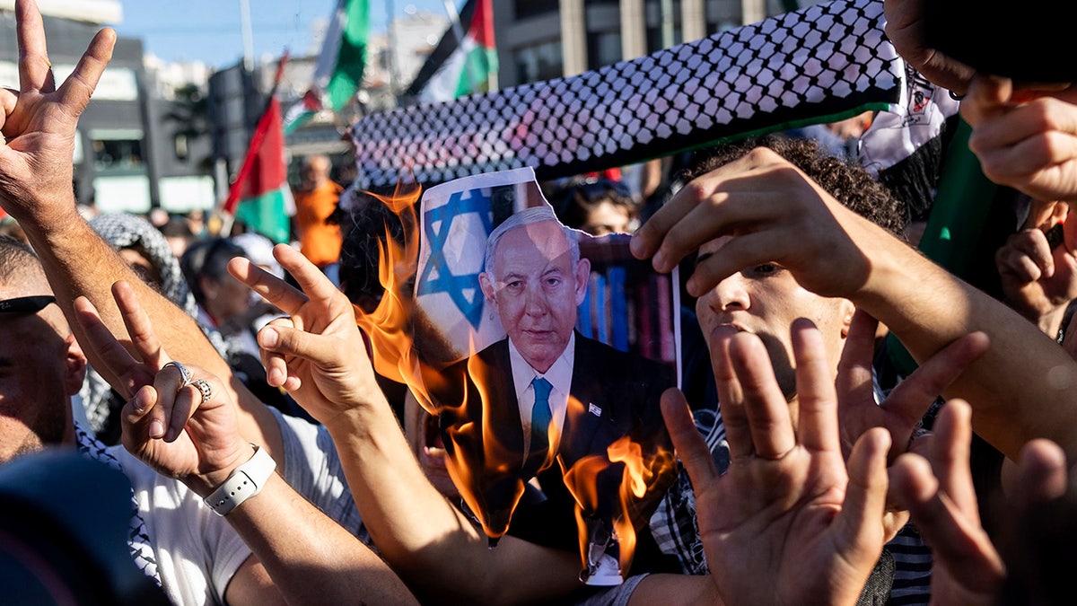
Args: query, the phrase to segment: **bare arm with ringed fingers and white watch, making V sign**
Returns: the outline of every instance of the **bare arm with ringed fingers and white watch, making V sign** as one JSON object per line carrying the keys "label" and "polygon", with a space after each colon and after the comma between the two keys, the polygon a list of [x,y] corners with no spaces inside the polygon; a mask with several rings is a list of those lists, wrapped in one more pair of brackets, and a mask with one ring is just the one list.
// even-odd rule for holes
{"label": "bare arm with ringed fingers and white watch, making V sign", "polygon": [[[132,293],[118,287],[116,302],[143,364],[159,369],[123,410],[123,442],[131,454],[163,476],[176,478],[201,497],[254,456],[239,435],[237,410],[220,380],[188,364],[191,378],[207,382],[207,397],[180,372],[164,364],[160,347]],[[127,355],[86,300],[79,319],[96,345],[111,356]],[[414,603],[410,592],[369,548],[295,493],[276,472],[261,491],[224,517],[251,548],[262,570],[248,561],[226,590],[230,604],[265,604],[282,595],[289,603]],[[279,595],[278,595],[279,592]]]}

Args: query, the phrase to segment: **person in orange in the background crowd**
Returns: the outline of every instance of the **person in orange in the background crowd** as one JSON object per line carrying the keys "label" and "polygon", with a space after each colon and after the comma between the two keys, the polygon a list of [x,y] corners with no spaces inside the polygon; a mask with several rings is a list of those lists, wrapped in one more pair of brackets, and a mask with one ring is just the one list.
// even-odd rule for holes
{"label": "person in orange in the background crowd", "polygon": [[328,156],[305,157],[299,168],[299,189],[294,197],[299,250],[319,268],[335,275],[331,267],[340,260],[342,236],[340,225],[326,219],[336,209],[344,188],[330,179],[332,167]]}

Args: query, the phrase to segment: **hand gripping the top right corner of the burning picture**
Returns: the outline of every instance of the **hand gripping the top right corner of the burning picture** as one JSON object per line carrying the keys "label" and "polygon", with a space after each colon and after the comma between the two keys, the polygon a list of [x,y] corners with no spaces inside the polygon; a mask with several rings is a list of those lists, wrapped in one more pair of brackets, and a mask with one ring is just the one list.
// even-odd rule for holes
{"label": "hand gripping the top right corner of the burning picture", "polygon": [[778,263],[816,294],[849,298],[870,271],[855,237],[865,231],[873,240],[883,233],[778,153],[757,148],[682,188],[640,228],[631,250],[669,272],[700,245],[732,236],[722,254],[697,264],[686,283],[694,297],[743,267]]}

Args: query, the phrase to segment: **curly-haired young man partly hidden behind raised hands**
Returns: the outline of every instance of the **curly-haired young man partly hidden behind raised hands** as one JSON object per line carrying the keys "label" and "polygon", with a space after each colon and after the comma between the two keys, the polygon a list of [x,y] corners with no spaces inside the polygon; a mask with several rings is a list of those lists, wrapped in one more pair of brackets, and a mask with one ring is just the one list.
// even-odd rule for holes
{"label": "curly-haired young man partly hidden behind raised hands", "polygon": [[[764,146],[765,149],[797,166],[825,191],[833,192],[843,207],[870,220],[891,234],[901,232],[905,224],[903,205],[875,182],[865,170],[834,157],[811,140],[768,137],[735,146],[724,146],[710,153],[704,151],[701,152],[700,160],[684,174],[683,178],[690,182],[697,177],[744,156],[756,146]],[[704,244],[699,249],[697,262],[705,262],[712,256],[723,254],[723,248],[728,239],[726,237],[716,238]],[[873,344],[871,339],[873,331],[869,331],[866,335],[867,352],[863,353],[865,321],[861,320],[854,326],[854,312],[855,306],[851,301],[842,298],[821,297],[806,290],[784,267],[775,263],[760,263],[735,272],[699,297],[696,304],[696,316],[699,318],[712,363],[715,341],[722,335],[737,331],[757,334],[767,347],[770,355],[770,366],[778,374],[779,385],[794,410],[798,405],[799,398],[792,364],[793,348],[788,333],[789,323],[798,317],[812,319],[826,345],[826,357],[829,360],[827,368],[830,369],[831,381],[850,382],[853,380],[853,373],[859,370],[858,364],[863,363],[865,359],[870,361]],[[966,357],[975,355],[975,344],[967,344],[964,347],[965,349],[953,354]],[[847,372],[839,372],[842,368]],[[931,372],[927,372],[919,376],[932,375]],[[863,377],[858,377],[858,380],[863,381]],[[940,378],[934,380],[939,381]],[[705,392],[702,388],[696,387],[696,383],[699,381],[713,381],[713,375],[709,372],[700,373],[699,376],[687,375],[683,387],[686,391]],[[866,383],[869,387],[866,392],[859,389],[858,392],[842,394],[848,404],[847,409],[853,409],[854,402],[863,402],[865,399],[872,407],[875,405],[873,390],[870,389],[872,384],[870,373]],[[910,385],[914,383],[917,381],[910,381]],[[906,385],[895,392],[895,400],[904,401],[903,398],[906,396],[903,392],[908,392],[910,385]],[[716,394],[716,396],[718,396],[717,399],[721,399],[721,394]],[[714,451],[714,456],[719,460],[728,462],[729,452],[724,443],[727,431],[723,414],[718,410],[718,402],[714,400],[691,402],[691,404],[696,410],[697,426],[700,432],[707,437],[707,443]],[[910,405],[919,405],[922,415],[929,404],[931,398],[923,398],[918,404]],[[903,444],[909,442],[919,421],[920,416],[915,415],[908,418],[905,427],[900,429],[900,436],[895,437],[895,440],[904,440]],[[852,423],[852,419],[850,419],[849,425],[859,426],[858,423]],[[852,442],[859,436],[856,429],[851,430],[850,433],[850,436],[843,435],[845,439],[843,446],[847,452],[852,446]],[[682,473],[673,490],[659,505],[652,519],[652,527],[661,549],[666,553],[675,555],[685,573],[705,574],[708,563],[704,559],[701,537],[697,532],[696,506],[691,483],[688,477]],[[895,560],[893,573],[896,581],[895,592],[900,596],[915,592],[921,592],[923,596],[926,596],[928,578],[924,574],[923,563],[929,560],[929,553],[925,546],[917,540],[914,529],[901,528],[904,521],[904,517],[893,515],[890,520],[892,527],[887,528],[887,540],[894,538],[894,533],[901,529],[901,534],[895,538],[894,549],[892,552],[890,550],[887,552],[887,557],[893,555]],[[885,584],[887,587],[881,591],[889,591],[890,583]]]}

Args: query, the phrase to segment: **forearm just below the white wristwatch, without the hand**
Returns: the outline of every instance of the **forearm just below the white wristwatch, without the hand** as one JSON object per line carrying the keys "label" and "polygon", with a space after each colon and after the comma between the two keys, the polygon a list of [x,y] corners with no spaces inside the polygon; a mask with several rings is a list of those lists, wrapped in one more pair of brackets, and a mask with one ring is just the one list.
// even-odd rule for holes
{"label": "forearm just below the white wristwatch, without the hand", "polygon": [[414,604],[365,545],[274,473],[226,517],[291,604]]}

